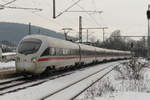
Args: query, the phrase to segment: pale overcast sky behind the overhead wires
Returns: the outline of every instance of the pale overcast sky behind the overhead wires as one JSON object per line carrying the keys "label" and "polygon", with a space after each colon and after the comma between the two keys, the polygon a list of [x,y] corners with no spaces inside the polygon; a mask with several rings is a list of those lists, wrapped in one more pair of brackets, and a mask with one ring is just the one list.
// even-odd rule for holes
{"label": "pale overcast sky behind the overhead wires", "polygon": [[[1,4],[11,0],[1,0]],[[77,0],[56,0],[56,13],[59,14]],[[107,26],[107,36],[114,30],[120,29],[122,35],[147,35],[146,11],[150,0],[81,0],[78,3],[84,10],[99,10],[102,14],[64,13],[57,19],[52,18],[52,0],[17,0],[8,5],[15,7],[41,8],[41,12],[31,10],[1,10],[0,21],[29,23],[63,32],[64,27],[72,27],[77,35],[79,15],[83,17],[83,27]],[[83,10],[78,5],[70,10]],[[74,33],[76,32],[76,33]],[[101,30],[90,30],[90,35],[102,40]],[[85,36],[85,33],[84,33]]]}

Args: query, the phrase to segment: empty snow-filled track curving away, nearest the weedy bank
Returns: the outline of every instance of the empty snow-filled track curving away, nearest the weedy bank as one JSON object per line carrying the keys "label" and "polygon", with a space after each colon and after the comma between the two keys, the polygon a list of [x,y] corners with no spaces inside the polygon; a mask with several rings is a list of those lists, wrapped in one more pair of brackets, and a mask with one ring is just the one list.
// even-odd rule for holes
{"label": "empty snow-filled track curving away, nearest the weedy bank", "polygon": [[[74,100],[78,95],[80,95],[89,86],[91,86],[91,84],[89,83],[90,84],[89,86],[84,86],[83,90],[79,89],[80,90],[79,93],[77,93],[75,91],[75,90],[78,90],[77,88],[79,88],[81,85],[84,85],[85,82],[87,82],[89,79],[92,80],[94,77],[96,77],[97,79],[93,83],[97,82],[98,80],[100,80],[101,78],[106,76],[108,73],[110,73],[118,65],[119,64],[110,65],[110,66],[107,66],[103,69],[100,69],[100,70],[80,79],[80,80],[77,80],[77,81],[75,81],[75,82],[55,91],[55,92],[50,93],[49,95],[47,95],[45,97],[42,97],[41,100],[59,100],[60,98],[61,98],[61,100]],[[75,94],[71,95],[69,92],[70,90],[73,90],[73,92]],[[68,93],[69,93],[69,95],[68,95]]]}

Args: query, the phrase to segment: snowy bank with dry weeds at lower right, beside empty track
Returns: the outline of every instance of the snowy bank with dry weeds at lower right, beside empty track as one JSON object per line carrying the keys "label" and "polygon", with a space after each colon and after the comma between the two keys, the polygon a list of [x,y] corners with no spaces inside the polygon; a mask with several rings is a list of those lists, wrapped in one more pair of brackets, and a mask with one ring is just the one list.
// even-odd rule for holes
{"label": "snowy bank with dry weeds at lower right, beside empty track", "polygon": [[[140,58],[136,63],[147,65],[150,62]],[[76,100],[150,100],[150,69],[141,70],[143,77],[139,80],[130,79],[130,70],[126,71],[124,66],[121,70],[117,70],[119,73],[112,71]]]}

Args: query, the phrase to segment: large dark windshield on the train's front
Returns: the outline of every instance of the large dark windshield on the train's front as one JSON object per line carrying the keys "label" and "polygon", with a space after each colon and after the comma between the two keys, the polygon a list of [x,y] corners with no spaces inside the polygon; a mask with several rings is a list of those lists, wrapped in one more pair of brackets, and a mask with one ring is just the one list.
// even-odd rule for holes
{"label": "large dark windshield on the train's front", "polygon": [[41,44],[42,41],[39,39],[25,39],[20,43],[18,52],[25,55],[36,53]]}

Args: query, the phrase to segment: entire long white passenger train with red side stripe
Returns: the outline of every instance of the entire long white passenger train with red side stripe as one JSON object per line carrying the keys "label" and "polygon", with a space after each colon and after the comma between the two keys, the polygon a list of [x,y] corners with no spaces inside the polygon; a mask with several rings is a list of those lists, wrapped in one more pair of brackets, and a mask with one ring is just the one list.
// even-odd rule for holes
{"label": "entire long white passenger train with red side stripe", "polygon": [[20,73],[41,74],[46,69],[130,56],[129,51],[103,49],[44,35],[28,35],[17,47],[16,70]]}

